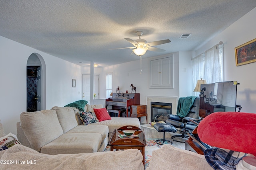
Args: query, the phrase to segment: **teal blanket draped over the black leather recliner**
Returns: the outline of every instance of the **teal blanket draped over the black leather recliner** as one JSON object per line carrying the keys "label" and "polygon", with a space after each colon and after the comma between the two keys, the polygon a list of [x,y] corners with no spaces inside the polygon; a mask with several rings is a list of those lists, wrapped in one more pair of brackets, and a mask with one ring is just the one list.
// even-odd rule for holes
{"label": "teal blanket draped over the black leather recliner", "polygon": [[188,96],[186,98],[179,98],[177,106],[177,115],[179,117],[186,117],[193,106],[196,96]]}

